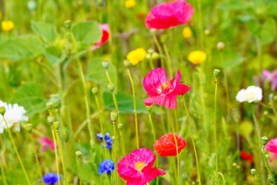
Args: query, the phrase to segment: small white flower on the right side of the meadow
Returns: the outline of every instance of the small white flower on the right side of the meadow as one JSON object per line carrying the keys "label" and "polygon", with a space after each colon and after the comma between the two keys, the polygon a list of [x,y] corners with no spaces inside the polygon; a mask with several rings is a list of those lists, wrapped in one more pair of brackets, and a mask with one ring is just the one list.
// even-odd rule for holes
{"label": "small white flower on the right side of the meadow", "polygon": [[254,101],[262,100],[262,89],[258,86],[249,86],[247,89],[241,89],[237,96],[235,96],[239,102],[248,101],[248,103],[252,103]]}

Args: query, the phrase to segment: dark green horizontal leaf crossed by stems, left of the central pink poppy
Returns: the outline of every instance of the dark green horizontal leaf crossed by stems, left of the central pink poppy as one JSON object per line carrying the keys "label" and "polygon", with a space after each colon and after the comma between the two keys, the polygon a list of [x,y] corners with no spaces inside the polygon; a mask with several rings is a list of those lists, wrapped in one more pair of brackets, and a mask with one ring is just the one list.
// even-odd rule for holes
{"label": "dark green horizontal leaf crossed by stems, left of the central pink poppy", "polygon": [[[115,109],[114,101],[109,91],[104,92],[103,99],[104,99],[106,109],[109,109],[109,110]],[[129,114],[134,113],[134,103],[133,103],[132,95],[126,94],[123,92],[118,92],[116,94],[116,100],[118,103],[118,110],[120,113],[129,113]],[[153,107],[152,111],[155,112],[156,114],[163,114],[162,110],[157,107]],[[145,113],[145,114],[148,113],[146,106],[143,103],[143,99],[141,98],[136,98],[136,112]]]}

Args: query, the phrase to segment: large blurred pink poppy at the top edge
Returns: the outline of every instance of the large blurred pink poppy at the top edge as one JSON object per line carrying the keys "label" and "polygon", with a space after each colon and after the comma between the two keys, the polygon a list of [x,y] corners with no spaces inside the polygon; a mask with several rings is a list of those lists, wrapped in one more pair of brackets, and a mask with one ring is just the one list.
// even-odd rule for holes
{"label": "large blurred pink poppy at the top edge", "polygon": [[166,29],[188,24],[194,12],[193,7],[186,1],[168,1],[151,9],[145,19],[145,26],[148,29]]}

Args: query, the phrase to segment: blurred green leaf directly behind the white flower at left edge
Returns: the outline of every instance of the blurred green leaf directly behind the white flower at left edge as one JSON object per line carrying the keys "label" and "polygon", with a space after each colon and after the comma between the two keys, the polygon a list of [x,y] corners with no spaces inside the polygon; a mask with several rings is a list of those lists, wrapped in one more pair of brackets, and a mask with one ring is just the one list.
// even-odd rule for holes
{"label": "blurred green leaf directly behind the white flower at left edge", "polygon": [[23,106],[28,115],[46,110],[46,102],[42,87],[35,83],[21,85],[12,99],[12,103]]}

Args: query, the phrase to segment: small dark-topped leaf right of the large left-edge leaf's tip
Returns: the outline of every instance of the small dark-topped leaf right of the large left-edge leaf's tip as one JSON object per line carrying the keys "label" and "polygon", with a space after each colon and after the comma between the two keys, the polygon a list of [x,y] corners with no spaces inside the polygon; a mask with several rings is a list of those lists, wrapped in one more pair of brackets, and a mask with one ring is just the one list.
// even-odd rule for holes
{"label": "small dark-topped leaf right of the large left-edge leaf's tip", "polygon": [[44,55],[53,66],[60,64],[66,58],[66,54],[59,46],[48,46],[44,50]]}

